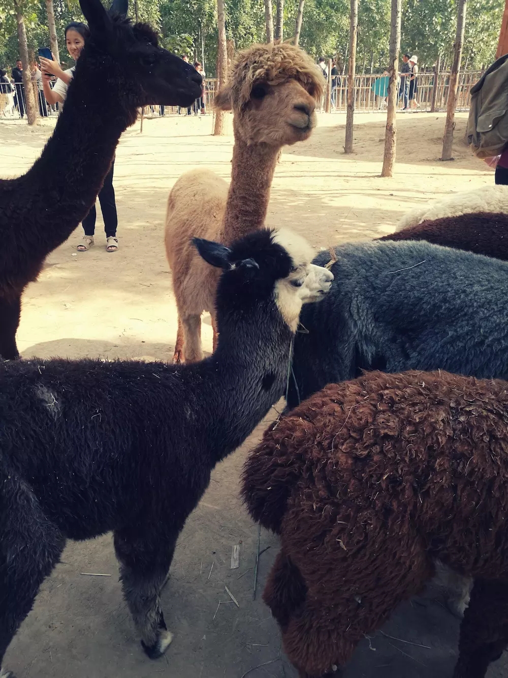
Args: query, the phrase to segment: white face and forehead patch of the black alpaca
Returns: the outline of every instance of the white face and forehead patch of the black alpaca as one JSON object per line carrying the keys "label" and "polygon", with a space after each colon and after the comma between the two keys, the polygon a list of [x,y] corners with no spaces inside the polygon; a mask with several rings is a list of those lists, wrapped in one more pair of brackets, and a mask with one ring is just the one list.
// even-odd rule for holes
{"label": "white face and forehead patch of the black alpaca", "polygon": [[312,247],[296,233],[280,228],[272,240],[284,247],[293,260],[293,270],[287,278],[275,283],[275,300],[284,321],[296,332],[301,306],[321,299],[329,292],[333,273],[311,264]]}

